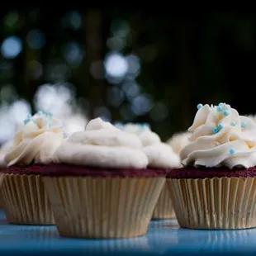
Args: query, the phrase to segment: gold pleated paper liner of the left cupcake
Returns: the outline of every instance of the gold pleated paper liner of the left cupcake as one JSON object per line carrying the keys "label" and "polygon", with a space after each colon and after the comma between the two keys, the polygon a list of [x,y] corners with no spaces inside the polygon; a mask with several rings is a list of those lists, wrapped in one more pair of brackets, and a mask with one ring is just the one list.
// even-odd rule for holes
{"label": "gold pleated paper liner of the left cupcake", "polygon": [[22,225],[55,225],[39,175],[5,174],[2,198],[7,221]]}

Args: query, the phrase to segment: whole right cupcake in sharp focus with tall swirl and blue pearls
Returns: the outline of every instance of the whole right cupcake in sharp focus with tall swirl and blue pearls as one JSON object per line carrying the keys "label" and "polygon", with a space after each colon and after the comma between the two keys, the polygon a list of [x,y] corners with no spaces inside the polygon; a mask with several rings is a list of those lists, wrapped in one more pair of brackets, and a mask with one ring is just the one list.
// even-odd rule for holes
{"label": "whole right cupcake in sharp focus with tall swirl and blue pearls", "polygon": [[183,168],[167,183],[180,226],[235,230],[256,226],[256,124],[231,108],[199,104],[188,129]]}

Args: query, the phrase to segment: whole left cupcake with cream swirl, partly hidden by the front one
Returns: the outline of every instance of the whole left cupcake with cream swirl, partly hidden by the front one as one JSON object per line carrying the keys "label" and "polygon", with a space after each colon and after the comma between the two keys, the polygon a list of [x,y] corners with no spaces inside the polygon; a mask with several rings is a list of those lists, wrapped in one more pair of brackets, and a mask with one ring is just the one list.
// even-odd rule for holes
{"label": "whole left cupcake with cream swirl, partly hidden by the front one", "polygon": [[64,132],[50,113],[28,116],[5,156],[2,198],[7,220],[23,225],[55,224],[40,173],[50,164]]}

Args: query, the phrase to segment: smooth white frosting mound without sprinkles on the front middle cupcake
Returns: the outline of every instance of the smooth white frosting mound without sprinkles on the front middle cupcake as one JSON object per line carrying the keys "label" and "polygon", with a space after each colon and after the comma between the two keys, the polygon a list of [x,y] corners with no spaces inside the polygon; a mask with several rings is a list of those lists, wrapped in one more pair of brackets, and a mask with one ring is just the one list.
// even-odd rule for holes
{"label": "smooth white frosting mound without sprinkles on the front middle cupcake", "polygon": [[148,159],[141,147],[137,135],[96,118],[59,146],[55,162],[97,168],[145,168]]}

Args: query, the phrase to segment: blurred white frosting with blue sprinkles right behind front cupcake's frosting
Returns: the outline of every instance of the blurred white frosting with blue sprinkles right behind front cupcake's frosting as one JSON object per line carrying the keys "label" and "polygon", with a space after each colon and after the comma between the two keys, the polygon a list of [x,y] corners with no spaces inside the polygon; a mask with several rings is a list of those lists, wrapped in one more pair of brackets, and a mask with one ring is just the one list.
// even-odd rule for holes
{"label": "blurred white frosting with blue sprinkles right behind front cupcake's frosting", "polygon": [[142,151],[149,159],[149,168],[178,168],[180,159],[173,149],[161,142],[159,135],[145,124],[127,124],[123,130],[135,133],[142,143]]}

